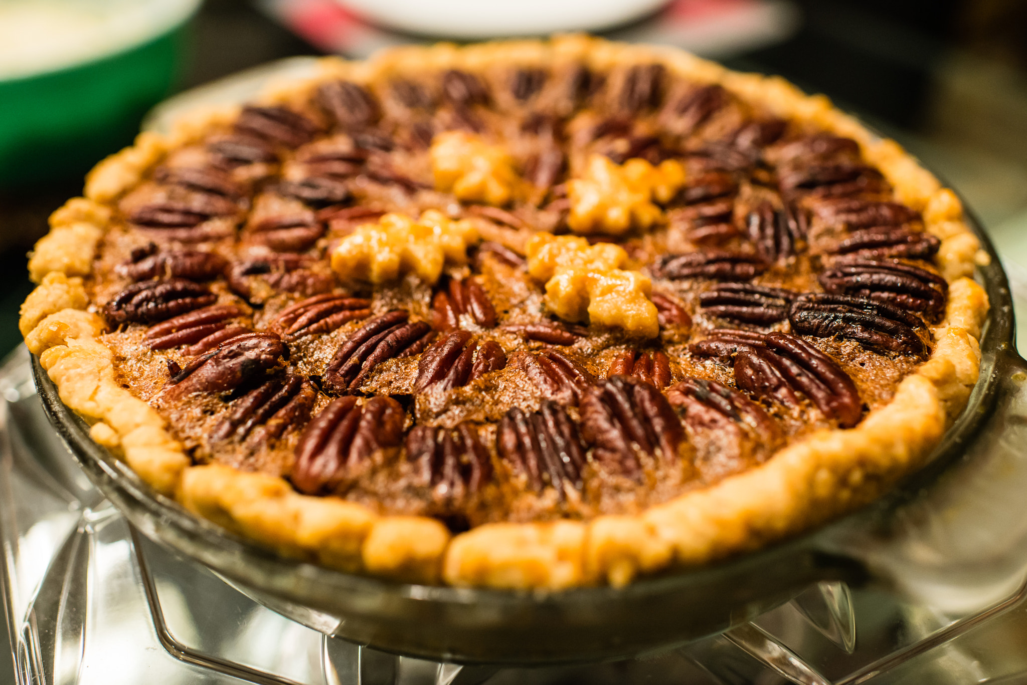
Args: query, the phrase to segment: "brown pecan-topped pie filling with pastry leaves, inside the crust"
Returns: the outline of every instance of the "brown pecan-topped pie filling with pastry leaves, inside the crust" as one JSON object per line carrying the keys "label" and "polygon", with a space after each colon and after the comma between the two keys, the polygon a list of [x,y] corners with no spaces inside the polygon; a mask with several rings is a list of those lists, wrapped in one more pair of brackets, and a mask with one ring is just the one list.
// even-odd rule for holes
{"label": "brown pecan-topped pie filling with pastry leaves, inside the crust", "polygon": [[197,463],[453,530],[637,512],[853,426],[947,297],[855,142],[655,64],[326,82],[114,217],[102,340]]}

